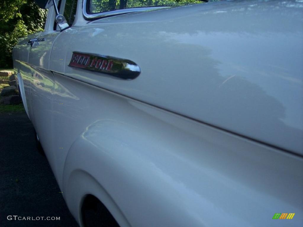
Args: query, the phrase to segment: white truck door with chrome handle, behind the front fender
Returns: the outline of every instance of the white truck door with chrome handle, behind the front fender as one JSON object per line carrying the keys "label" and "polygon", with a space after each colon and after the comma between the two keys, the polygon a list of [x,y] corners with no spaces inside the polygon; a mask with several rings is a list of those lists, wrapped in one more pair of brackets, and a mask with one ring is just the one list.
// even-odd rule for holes
{"label": "white truck door with chrome handle, behind the front fender", "polygon": [[52,45],[58,35],[60,31],[55,30],[55,12],[51,7],[48,9],[45,31],[31,41],[28,55],[28,66],[31,71],[31,120],[50,163],[54,159],[52,100],[55,78],[49,70],[49,59]]}

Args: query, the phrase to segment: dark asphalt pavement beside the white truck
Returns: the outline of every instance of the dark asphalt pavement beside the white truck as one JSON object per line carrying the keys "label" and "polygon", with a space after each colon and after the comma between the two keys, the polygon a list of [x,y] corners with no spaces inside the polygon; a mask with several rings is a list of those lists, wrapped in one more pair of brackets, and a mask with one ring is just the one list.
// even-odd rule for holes
{"label": "dark asphalt pavement beside the white truck", "polygon": [[[78,227],[33,135],[26,113],[0,114],[0,226]],[[60,221],[9,221],[8,215]]]}

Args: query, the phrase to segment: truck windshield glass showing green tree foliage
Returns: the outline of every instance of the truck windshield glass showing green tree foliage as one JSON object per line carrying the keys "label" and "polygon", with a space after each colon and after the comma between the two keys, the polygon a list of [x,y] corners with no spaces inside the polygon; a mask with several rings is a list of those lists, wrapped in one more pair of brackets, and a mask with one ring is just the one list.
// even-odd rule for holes
{"label": "truck windshield glass showing green tree foliage", "polygon": [[149,7],[149,6],[177,6],[197,4],[197,0],[91,0],[89,13],[108,12],[117,9]]}

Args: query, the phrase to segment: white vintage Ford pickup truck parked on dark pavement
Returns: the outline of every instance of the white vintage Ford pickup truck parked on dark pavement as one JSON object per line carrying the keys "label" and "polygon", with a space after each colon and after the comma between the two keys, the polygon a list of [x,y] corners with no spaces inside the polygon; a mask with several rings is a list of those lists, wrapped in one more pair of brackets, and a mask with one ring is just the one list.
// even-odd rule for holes
{"label": "white vintage Ford pickup truck parked on dark pavement", "polygon": [[14,70],[80,226],[303,226],[303,1],[36,2]]}

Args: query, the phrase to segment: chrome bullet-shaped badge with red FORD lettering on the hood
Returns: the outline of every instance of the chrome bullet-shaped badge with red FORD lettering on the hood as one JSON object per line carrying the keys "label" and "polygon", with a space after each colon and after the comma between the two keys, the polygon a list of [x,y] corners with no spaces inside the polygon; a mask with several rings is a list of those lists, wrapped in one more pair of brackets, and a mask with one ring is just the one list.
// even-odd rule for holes
{"label": "chrome bullet-shaped badge with red FORD lettering on the hood", "polygon": [[122,79],[135,79],[140,74],[140,67],[133,61],[80,52],[73,52],[68,66],[101,72]]}

